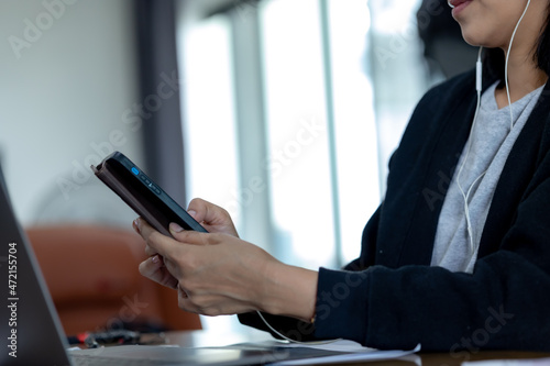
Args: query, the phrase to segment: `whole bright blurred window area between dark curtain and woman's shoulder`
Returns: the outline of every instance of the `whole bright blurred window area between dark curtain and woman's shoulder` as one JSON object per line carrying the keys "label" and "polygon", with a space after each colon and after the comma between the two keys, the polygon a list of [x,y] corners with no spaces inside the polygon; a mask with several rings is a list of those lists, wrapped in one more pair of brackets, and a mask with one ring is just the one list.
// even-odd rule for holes
{"label": "whole bright blurred window area between dark curtain and woman's shoulder", "polygon": [[354,259],[427,87],[407,33],[416,4],[228,0],[202,16],[208,2],[185,3],[187,196],[226,207],[241,237],[285,263]]}

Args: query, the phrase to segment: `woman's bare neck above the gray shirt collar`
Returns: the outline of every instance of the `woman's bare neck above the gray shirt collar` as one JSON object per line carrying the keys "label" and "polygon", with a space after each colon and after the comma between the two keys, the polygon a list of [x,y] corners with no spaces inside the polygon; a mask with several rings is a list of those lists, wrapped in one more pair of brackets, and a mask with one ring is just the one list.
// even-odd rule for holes
{"label": "woman's bare neck above the gray shirt collar", "polygon": [[[508,59],[508,88],[512,103],[538,89],[547,80],[548,75],[537,67],[532,53],[513,52],[510,54]],[[495,97],[498,108],[508,106],[508,97],[504,84],[502,88],[495,91]]]}

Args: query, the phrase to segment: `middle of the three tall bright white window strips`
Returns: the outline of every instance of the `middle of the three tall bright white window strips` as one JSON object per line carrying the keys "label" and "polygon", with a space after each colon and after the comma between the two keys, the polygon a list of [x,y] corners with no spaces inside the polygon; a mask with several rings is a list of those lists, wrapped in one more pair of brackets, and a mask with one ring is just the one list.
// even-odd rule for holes
{"label": "middle of the three tall bright white window strips", "polygon": [[316,269],[336,254],[318,3],[261,10],[274,253]]}

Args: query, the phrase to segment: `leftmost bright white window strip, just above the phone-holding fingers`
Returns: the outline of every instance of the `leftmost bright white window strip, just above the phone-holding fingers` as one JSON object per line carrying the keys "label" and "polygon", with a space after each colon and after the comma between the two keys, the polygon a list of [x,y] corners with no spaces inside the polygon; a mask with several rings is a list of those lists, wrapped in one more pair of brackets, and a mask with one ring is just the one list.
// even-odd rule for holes
{"label": "leftmost bright white window strip, just above the phone-holding fingers", "polygon": [[[188,197],[229,208],[238,191],[237,136],[229,22],[193,27],[185,47],[184,147]],[[239,212],[230,212],[238,221]]]}

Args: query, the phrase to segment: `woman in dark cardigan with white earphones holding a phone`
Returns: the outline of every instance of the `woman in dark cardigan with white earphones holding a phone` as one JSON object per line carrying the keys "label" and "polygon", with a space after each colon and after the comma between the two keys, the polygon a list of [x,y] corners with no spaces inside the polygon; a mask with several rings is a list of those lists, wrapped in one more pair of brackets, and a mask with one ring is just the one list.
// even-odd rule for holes
{"label": "woman in dark cardigan with white earphones holding a phone", "polygon": [[465,41],[490,48],[481,106],[475,71],[422,98],[360,258],[344,270],[287,266],[194,200],[210,234],[172,225],[173,240],[136,220],[151,255],[141,273],[177,288],[182,309],[266,329],[262,311],[297,340],[550,351],[550,1],[450,5]]}

